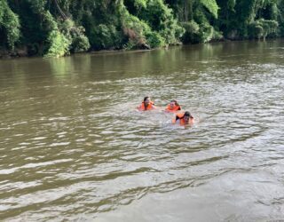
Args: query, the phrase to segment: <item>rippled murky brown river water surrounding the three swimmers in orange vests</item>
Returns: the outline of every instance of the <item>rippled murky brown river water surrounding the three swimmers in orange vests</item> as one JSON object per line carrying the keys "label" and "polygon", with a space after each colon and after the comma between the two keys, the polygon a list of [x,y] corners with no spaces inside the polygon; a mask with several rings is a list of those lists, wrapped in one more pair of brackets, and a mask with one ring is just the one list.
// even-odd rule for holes
{"label": "rippled murky brown river water surrounding the three swimmers in orange vests", "polygon": [[0,220],[284,221],[284,40],[1,60]]}

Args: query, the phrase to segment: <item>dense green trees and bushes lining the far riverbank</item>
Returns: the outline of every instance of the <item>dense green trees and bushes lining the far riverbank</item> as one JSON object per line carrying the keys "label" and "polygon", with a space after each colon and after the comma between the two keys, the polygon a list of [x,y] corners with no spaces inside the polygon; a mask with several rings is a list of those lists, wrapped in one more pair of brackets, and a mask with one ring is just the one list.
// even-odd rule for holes
{"label": "dense green trees and bushes lining the far riverbank", "polygon": [[0,49],[59,57],[264,39],[284,35],[283,13],[284,0],[0,0]]}

